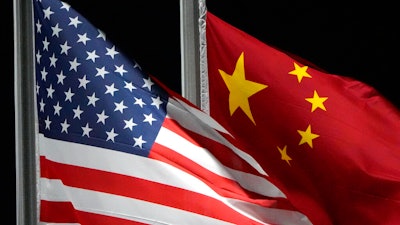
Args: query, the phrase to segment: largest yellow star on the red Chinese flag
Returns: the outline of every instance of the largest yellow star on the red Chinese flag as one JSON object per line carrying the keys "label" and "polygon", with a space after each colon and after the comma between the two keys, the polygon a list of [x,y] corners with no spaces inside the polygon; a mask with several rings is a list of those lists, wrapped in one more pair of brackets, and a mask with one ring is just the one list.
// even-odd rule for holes
{"label": "largest yellow star on the red Chinese flag", "polygon": [[241,108],[243,112],[256,124],[250,110],[249,97],[266,88],[267,85],[246,80],[244,70],[244,53],[240,54],[232,75],[218,70],[229,90],[229,111],[232,114]]}

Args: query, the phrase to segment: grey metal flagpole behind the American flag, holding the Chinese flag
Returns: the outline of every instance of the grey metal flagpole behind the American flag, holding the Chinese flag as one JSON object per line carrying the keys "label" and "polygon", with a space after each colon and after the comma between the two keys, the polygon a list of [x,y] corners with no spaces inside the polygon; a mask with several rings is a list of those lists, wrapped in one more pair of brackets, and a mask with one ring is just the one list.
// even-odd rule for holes
{"label": "grey metal flagpole behind the American flag, holding the Chinese flag", "polygon": [[199,0],[180,0],[182,96],[200,105]]}

